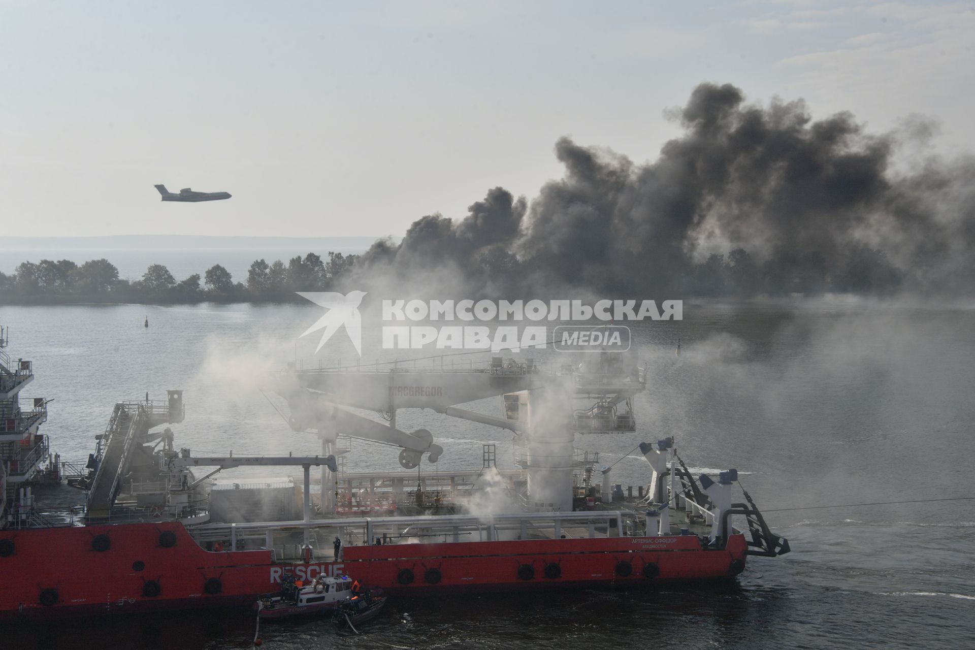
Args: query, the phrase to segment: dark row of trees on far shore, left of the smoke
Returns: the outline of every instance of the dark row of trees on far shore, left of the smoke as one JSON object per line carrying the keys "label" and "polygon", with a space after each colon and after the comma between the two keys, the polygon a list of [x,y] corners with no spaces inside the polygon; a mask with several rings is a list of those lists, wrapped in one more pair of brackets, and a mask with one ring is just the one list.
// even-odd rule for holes
{"label": "dark row of trees on far shore, left of the smoke", "polygon": [[119,277],[107,259],[76,264],[69,259],[21,262],[13,274],[0,272],[0,303],[65,302],[284,302],[300,300],[294,291],[323,290],[356,263],[358,255],[329,252],[328,258],[309,252],[287,264],[256,259],[245,282],[234,282],[227,269],[215,264],[177,281],[163,264],[152,264],[141,279]]}

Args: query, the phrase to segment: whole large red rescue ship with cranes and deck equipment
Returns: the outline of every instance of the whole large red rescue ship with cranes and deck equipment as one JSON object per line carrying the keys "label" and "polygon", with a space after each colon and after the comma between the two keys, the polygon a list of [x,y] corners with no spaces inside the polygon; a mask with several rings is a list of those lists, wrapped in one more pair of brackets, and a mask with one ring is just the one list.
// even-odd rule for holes
{"label": "whole large red rescue ship with cranes and deck equipment", "polygon": [[[176,608],[250,608],[285,581],[353,576],[384,593],[635,588],[729,580],[748,555],[788,553],[736,472],[694,477],[674,441],[641,444],[646,482],[595,480],[598,454],[576,435],[632,434],[644,369],[622,357],[547,367],[304,370],[274,389],[316,456],[195,456],[166,425],[181,391],[117,403],[87,461],[61,461],[39,433],[47,401],[21,406],[30,362],[0,333],[0,620]],[[457,406],[495,396],[504,417]],[[581,403],[581,407],[578,407]],[[443,449],[397,411],[432,408],[515,435],[515,469],[485,445],[478,470],[426,472]],[[371,409],[367,417],[354,409]],[[544,418],[541,414],[544,413]],[[558,416],[553,416],[558,413]],[[400,448],[402,472],[352,473],[353,442]],[[351,463],[349,463],[351,464]],[[301,467],[292,478],[214,478],[234,468]],[[319,481],[313,494],[312,469]],[[740,527],[736,527],[740,526]]]}

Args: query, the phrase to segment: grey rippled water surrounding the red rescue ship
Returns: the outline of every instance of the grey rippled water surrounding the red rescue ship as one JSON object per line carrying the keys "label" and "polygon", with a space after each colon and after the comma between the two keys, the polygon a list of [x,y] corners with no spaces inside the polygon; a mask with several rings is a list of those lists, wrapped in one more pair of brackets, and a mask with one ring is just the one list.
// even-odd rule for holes
{"label": "grey rippled water surrounding the red rescue ship", "polygon": [[[265,379],[295,358],[356,363],[343,335],[317,358],[314,335],[297,339],[320,312],[311,304],[0,307],[0,324],[12,327],[14,356],[34,362],[25,397],[54,399],[44,431],[65,459],[94,448],[114,402],[169,388],[186,391],[187,417],[174,427],[180,446],[315,453],[316,440],[285,424]],[[364,322],[360,363],[409,358],[381,353]],[[642,457],[624,456],[668,436],[692,468],[737,468],[792,554],[753,558],[737,586],[720,590],[400,599],[360,636],[339,638],[321,621],[267,625],[263,647],[973,647],[975,501],[780,509],[975,496],[975,312],[687,303],[683,322],[645,324],[635,336],[650,367],[638,433],[576,445],[599,450],[604,464],[619,461],[613,482],[624,485],[648,477]],[[501,414],[499,400],[469,407]],[[423,472],[480,467],[486,442],[497,445],[499,465],[513,465],[508,432],[429,411],[401,412],[399,424],[426,427],[445,447]],[[393,470],[396,458],[390,447],[356,442],[347,467]],[[242,648],[253,626],[246,612],[180,613],[8,629],[0,647]]]}

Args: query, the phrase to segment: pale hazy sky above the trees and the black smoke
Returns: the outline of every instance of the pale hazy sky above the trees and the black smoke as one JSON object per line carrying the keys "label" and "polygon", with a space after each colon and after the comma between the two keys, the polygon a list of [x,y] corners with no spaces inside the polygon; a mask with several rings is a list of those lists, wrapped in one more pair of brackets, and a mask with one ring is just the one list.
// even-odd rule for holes
{"label": "pale hazy sky above the trees and the black smoke", "polygon": [[402,236],[562,135],[654,160],[704,81],[970,153],[975,2],[0,0],[0,235]]}

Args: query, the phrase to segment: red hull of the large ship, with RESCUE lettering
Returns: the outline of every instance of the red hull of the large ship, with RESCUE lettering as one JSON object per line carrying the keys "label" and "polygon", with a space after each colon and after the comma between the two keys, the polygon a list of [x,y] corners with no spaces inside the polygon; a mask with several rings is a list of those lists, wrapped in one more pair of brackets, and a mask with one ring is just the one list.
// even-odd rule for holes
{"label": "red hull of the large ship, with RESCUE lettering", "polygon": [[14,548],[0,556],[0,620],[246,609],[286,573],[347,574],[412,595],[728,580],[744,568],[746,549],[742,535],[720,551],[693,536],[600,537],[346,547],[339,561],[290,564],[266,550],[208,552],[176,522],[4,530],[4,539]]}

